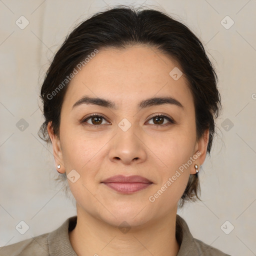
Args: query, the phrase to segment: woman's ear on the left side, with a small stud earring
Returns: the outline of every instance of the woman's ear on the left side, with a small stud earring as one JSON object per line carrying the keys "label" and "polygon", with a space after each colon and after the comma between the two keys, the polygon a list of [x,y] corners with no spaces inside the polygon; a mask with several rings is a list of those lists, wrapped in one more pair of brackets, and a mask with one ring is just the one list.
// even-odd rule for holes
{"label": "woman's ear on the left side, with a small stud earring", "polygon": [[[60,173],[64,173],[65,172],[65,168],[63,165],[63,156],[62,156],[62,151],[61,151],[61,147],[60,147],[60,141],[59,141],[59,137],[54,134],[53,132],[53,127],[51,125],[51,121],[48,122],[47,124],[47,131],[52,143],[52,149],[53,149],[53,156],[54,156],[54,160],[55,160],[55,167],[56,170]],[[57,165],[60,165],[60,168],[57,168]]]}

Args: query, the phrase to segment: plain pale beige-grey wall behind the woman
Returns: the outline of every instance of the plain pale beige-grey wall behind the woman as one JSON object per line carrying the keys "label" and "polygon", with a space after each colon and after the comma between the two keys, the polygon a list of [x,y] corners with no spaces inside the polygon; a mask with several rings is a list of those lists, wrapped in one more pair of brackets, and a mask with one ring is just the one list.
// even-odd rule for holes
{"label": "plain pale beige-grey wall behind the woman", "polygon": [[[77,22],[107,5],[130,3],[143,1],[0,0],[0,246],[52,231],[76,214],[53,181],[51,146],[37,136],[43,121],[39,87],[53,53]],[[144,4],[188,25],[204,43],[219,77],[223,110],[211,157],[199,173],[203,202],[186,204],[178,213],[205,243],[231,255],[256,255],[256,1]],[[21,15],[29,21],[24,29],[15,24]],[[234,21],[229,29],[221,24],[226,15]],[[16,126],[21,118],[28,122],[23,131]],[[228,130],[226,118],[233,123]],[[29,225],[23,235],[15,229],[21,220]],[[234,226],[229,234],[220,228],[226,220],[226,232]]]}

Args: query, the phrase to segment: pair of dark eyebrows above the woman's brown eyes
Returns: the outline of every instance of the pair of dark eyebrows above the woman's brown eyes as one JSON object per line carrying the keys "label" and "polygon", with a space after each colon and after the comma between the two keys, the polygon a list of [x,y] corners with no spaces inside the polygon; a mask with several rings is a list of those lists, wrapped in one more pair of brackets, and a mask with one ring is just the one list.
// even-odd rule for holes
{"label": "pair of dark eyebrows above the woman's brown eyes", "polygon": [[[79,100],[77,100],[73,106],[72,109],[75,106],[82,105],[82,104],[93,104],[103,107],[109,107],[112,109],[117,109],[115,103],[113,101],[107,100],[105,98],[99,98],[99,97],[89,97],[89,96],[83,96]],[[162,104],[171,104],[176,105],[180,108],[184,108],[183,105],[175,98],[166,96],[166,97],[151,97],[144,99],[140,101],[137,105],[138,109],[142,109],[145,107],[153,106],[153,105],[162,105]]]}

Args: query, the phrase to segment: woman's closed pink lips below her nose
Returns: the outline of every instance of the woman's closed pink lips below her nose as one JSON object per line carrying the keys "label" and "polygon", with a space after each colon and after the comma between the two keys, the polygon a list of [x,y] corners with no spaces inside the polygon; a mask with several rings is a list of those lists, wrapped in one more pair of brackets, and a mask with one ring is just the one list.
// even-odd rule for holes
{"label": "woman's closed pink lips below her nose", "polygon": [[106,184],[108,187],[116,190],[117,192],[128,194],[146,188],[152,184],[152,182],[147,178],[138,175],[116,175],[103,180],[102,183]]}

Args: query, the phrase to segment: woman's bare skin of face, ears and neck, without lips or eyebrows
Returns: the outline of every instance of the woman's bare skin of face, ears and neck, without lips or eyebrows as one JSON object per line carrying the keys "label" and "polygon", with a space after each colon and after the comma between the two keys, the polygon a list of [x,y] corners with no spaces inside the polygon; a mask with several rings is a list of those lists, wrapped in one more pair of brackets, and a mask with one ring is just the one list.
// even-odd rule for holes
{"label": "woman's bare skin of face, ears and neck, without lips or eyebrows", "polygon": [[[68,179],[77,207],[77,224],[69,239],[79,256],[177,255],[177,203],[189,175],[195,173],[194,164],[200,166],[205,159],[208,130],[196,140],[192,94],[184,75],[178,80],[169,75],[175,66],[179,65],[147,46],[99,50],[68,85],[59,136],[48,123],[55,163],[61,165],[58,171],[68,174],[75,169],[80,175],[74,183]],[[84,95],[114,101],[117,109],[92,104],[72,109]],[[183,108],[161,104],[137,109],[143,99],[166,95]],[[92,113],[105,119],[94,124],[97,127],[86,125],[93,125],[93,117],[80,123]],[[157,124],[151,117],[157,113],[170,116],[175,123],[164,119]],[[126,131],[118,126],[123,118],[131,124]],[[197,151],[200,156],[150,202],[149,196]],[[117,174],[141,175],[153,183],[132,194],[100,183]],[[131,227],[126,233],[118,228],[123,221]]]}

